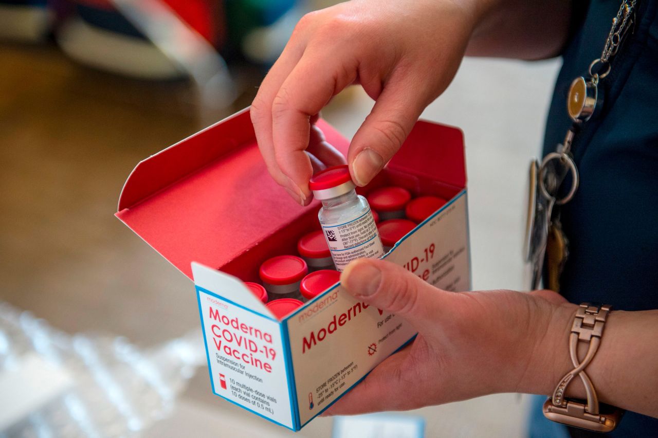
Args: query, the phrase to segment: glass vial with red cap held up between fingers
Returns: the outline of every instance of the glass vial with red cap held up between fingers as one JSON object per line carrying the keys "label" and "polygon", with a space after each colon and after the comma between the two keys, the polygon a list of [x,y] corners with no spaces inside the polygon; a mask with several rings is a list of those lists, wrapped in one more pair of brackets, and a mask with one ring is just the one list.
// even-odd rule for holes
{"label": "glass vial with red cap held up between fingers", "polygon": [[318,219],[338,271],[357,258],[384,255],[368,201],[357,195],[347,166],[318,172],[309,187],[322,202]]}

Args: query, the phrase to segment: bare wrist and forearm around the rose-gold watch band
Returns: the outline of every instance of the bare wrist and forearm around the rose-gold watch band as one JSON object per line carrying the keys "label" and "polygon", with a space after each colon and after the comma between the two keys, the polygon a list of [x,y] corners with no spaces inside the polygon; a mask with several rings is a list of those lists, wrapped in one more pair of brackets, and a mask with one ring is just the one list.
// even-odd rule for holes
{"label": "bare wrist and forearm around the rose-gold watch band", "polygon": [[[569,357],[569,333],[577,306],[563,304],[553,313],[544,339],[519,382],[517,391],[550,395],[574,368]],[[579,347],[583,358],[586,345]],[[599,401],[658,417],[658,310],[614,311],[608,316],[601,345],[585,370]],[[567,397],[585,399],[582,381],[573,379]]]}

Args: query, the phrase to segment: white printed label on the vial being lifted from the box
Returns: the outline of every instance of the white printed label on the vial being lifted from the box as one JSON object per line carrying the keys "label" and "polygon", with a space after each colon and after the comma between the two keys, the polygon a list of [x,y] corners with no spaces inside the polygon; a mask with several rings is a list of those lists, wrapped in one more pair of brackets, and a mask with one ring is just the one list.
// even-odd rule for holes
{"label": "white printed label on the vial being lifted from the box", "polygon": [[334,258],[336,270],[340,272],[357,258],[379,258],[384,255],[382,240],[370,210],[342,224],[322,222],[322,231]]}

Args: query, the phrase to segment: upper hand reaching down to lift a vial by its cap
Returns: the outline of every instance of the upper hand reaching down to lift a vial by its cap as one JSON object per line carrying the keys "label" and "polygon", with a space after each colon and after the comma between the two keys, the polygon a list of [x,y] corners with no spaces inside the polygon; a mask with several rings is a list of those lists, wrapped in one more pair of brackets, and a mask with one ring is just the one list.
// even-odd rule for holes
{"label": "upper hand reaching down to lift a vial by its cap", "polygon": [[315,126],[350,84],[376,101],[347,155],[366,185],[397,152],[424,108],[451,82],[477,1],[350,1],[305,15],[251,106],[268,171],[301,205],[314,168],[345,164]]}

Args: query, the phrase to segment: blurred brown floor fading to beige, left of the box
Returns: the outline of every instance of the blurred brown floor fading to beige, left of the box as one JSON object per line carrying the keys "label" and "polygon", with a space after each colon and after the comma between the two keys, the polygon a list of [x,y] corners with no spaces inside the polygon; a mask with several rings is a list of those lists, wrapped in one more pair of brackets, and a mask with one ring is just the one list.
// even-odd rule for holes
{"label": "blurred brown floor fading to beige, left of the box", "polygon": [[200,114],[184,82],[91,70],[53,45],[0,45],[0,301],[142,344],[197,328],[191,282],[113,214],[139,160],[252,97]]}

